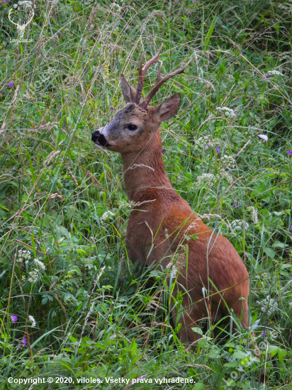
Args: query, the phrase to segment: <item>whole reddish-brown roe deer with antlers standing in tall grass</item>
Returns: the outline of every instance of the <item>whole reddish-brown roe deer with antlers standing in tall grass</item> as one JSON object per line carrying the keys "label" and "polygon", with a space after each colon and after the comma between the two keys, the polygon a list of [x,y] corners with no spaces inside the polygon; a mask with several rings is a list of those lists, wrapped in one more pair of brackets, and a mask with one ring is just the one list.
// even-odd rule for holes
{"label": "whole reddish-brown roe deer with antlers standing in tall grass", "polygon": [[[191,330],[192,326],[203,318],[217,321],[228,315],[228,308],[240,318],[242,325],[249,325],[249,274],[232,244],[193,213],[174,191],[165,173],[159,126],[176,115],[181,96],[174,94],[158,106],[148,104],[159,87],[170,77],[184,72],[189,62],[162,77],[162,62],[158,59],[161,49],[162,46],[144,67],[141,59],[137,91],[120,75],[126,105],[116,112],[111,123],[94,131],[91,140],[97,147],[120,153],[128,199],[139,204],[139,210],[131,211],[128,221],[126,245],[130,260],[148,265],[160,263],[165,268],[178,267],[174,258],[179,258],[173,294],[176,296],[179,291],[183,294],[184,311],[179,318],[178,335],[181,342],[192,343],[201,337]],[[157,82],[142,99],[145,72],[155,62],[160,63]],[[196,235],[196,239],[186,241],[186,235],[187,238]],[[187,264],[186,248],[181,245],[186,243]],[[207,297],[203,296],[203,287]],[[174,309],[174,321],[176,315]]]}

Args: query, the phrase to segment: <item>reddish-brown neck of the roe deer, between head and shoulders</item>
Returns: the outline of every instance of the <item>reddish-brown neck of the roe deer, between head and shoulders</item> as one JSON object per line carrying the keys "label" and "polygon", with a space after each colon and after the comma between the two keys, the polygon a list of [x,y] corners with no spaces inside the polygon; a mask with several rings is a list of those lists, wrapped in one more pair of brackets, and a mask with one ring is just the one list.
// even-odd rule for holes
{"label": "reddish-brown neck of the roe deer, between head and shoulders", "polygon": [[130,201],[150,188],[172,188],[162,160],[162,142],[159,130],[140,152],[123,153],[123,177]]}

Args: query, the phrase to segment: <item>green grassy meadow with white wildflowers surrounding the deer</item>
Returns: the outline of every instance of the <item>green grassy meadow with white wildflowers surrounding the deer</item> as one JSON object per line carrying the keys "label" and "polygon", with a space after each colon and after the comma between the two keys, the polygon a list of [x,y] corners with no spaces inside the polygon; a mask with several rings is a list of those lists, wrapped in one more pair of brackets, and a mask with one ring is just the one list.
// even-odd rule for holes
{"label": "green grassy meadow with white wildflowers surrounding the deer", "polygon": [[[33,1],[30,43],[11,42],[14,4],[0,1],[1,389],[121,389],[77,379],[145,374],[196,384],[135,389],[291,389],[292,1]],[[169,314],[175,279],[128,259],[120,157],[91,143],[123,107],[120,72],[135,85],[161,43],[164,74],[193,59],[153,99],[182,96],[162,124],[168,177],[196,213],[220,215],[206,222],[250,274],[251,328],[207,322],[195,351]]]}

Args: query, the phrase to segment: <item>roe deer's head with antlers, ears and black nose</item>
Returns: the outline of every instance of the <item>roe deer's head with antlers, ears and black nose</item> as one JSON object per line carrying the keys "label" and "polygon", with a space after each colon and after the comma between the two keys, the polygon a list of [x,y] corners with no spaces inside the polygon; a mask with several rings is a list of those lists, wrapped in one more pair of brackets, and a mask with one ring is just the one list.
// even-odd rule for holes
{"label": "roe deer's head with antlers, ears and black nose", "polygon": [[[108,150],[120,152],[121,154],[139,151],[152,138],[153,133],[158,130],[160,124],[172,118],[178,111],[181,104],[180,94],[174,94],[158,106],[148,106],[162,84],[170,77],[183,73],[190,62],[187,62],[184,67],[162,77],[162,61],[158,59],[161,50],[162,45],[155,56],[146,62],[144,67],[142,67],[142,56],[139,65],[137,89],[128,84],[123,74],[120,75],[120,85],[126,105],[116,112],[113,121],[91,134],[91,140],[97,147],[105,147]],[[157,81],[143,100],[142,88],[145,74],[150,65],[155,62],[160,63]]]}

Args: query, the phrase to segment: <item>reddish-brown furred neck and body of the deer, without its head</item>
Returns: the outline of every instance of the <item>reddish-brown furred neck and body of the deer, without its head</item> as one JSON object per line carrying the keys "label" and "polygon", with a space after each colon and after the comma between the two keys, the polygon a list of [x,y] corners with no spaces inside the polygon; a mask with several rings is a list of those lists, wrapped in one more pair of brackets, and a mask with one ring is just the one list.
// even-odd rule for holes
{"label": "reddish-brown furred neck and body of the deer, without its head", "polygon": [[[190,223],[195,221],[197,224],[195,228],[188,230],[188,235],[196,234],[198,239],[191,239],[187,242],[189,245],[187,279],[186,267],[181,267],[182,275],[179,275],[178,284],[176,284],[176,286],[179,284],[187,286],[191,297],[184,294],[183,306],[187,308],[188,314],[184,313],[181,317],[183,323],[179,331],[181,341],[193,342],[198,334],[193,333],[191,327],[195,326],[196,321],[209,316],[203,300],[202,287],[205,286],[206,294],[214,294],[215,289],[208,282],[208,277],[218,291],[223,291],[221,294],[210,297],[213,320],[215,317],[218,319],[228,314],[224,299],[236,316],[241,318],[242,323],[248,325],[249,280],[245,264],[232,244],[222,235],[213,234],[213,230],[210,230],[191,211],[189,204],[179,194],[176,194],[164,170],[161,146],[160,134],[157,131],[152,136],[151,142],[147,143],[138,155],[137,152],[122,154],[128,198],[135,203],[155,199],[153,202],[138,207],[143,211],[130,213],[127,229],[129,257],[133,262],[136,260],[141,264],[161,262],[162,266],[166,267]],[[155,172],[145,166],[129,169],[133,161],[136,165],[152,167]],[[146,260],[152,243],[152,234],[147,225],[150,226],[153,235],[157,233],[157,230],[158,233],[154,240],[155,246]],[[179,226],[181,226],[179,229],[181,231],[178,234]],[[168,230],[169,238],[165,237],[165,229]],[[176,233],[172,235],[175,231]],[[180,262],[181,260],[185,261],[185,257],[181,257]],[[245,300],[240,301],[241,297]]]}

